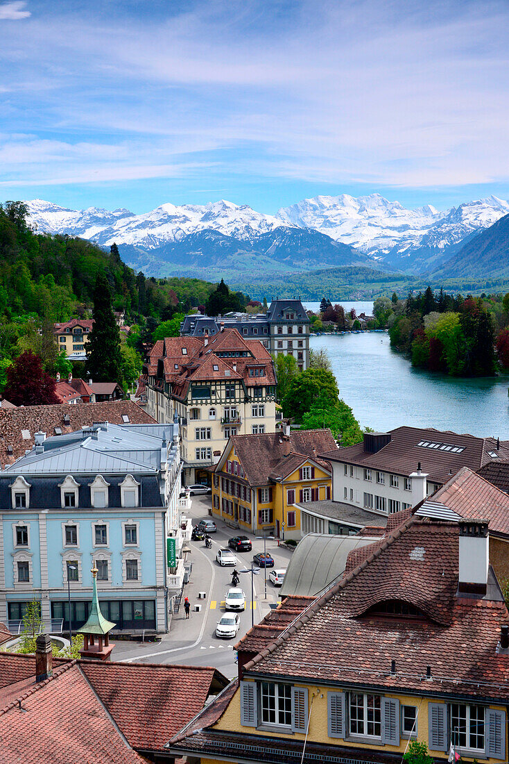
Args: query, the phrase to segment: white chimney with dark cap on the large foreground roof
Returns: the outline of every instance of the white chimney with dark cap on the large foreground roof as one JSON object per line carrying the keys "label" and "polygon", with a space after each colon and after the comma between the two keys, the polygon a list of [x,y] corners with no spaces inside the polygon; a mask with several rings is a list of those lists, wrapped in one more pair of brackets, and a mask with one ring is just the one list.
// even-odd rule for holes
{"label": "white chimney with dark cap on the large foreground roof", "polygon": [[459,522],[459,581],[462,594],[486,594],[489,568],[488,523],[485,520]]}

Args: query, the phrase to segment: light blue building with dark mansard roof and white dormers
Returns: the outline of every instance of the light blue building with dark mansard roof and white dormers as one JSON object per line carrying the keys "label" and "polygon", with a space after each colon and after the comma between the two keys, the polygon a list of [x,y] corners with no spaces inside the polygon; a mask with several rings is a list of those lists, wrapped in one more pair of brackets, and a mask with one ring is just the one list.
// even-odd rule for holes
{"label": "light blue building with dark mansard roof and white dormers", "polygon": [[[179,426],[101,422],[68,435],[37,432],[0,473],[0,620],[40,601],[43,622],[87,620],[93,564],[101,608],[118,630],[165,632],[182,588]],[[185,524],[185,531],[182,525]]]}

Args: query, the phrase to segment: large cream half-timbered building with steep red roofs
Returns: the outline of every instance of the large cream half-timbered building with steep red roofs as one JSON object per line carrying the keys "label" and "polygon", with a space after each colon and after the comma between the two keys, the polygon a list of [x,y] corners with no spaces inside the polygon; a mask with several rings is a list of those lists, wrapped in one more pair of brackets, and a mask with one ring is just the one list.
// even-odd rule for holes
{"label": "large cream half-timbered building with steep red roofs", "polygon": [[185,484],[211,482],[208,468],[233,435],[275,432],[275,370],[259,340],[236,329],[159,340],[143,366],[146,410],[181,424]]}

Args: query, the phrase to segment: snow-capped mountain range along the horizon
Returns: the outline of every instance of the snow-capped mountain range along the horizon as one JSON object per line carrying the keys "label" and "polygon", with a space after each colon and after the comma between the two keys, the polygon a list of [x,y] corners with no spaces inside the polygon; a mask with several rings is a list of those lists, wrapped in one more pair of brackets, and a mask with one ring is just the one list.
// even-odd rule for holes
{"label": "snow-capped mountain range along the horizon", "polygon": [[166,203],[141,215],[127,209],[72,210],[42,199],[25,203],[37,231],[91,239],[105,248],[116,242],[124,260],[147,275],[206,270],[209,278],[235,280],[242,274],[243,281],[250,273],[345,266],[454,277],[461,270],[462,248],[509,214],[509,202],[496,196],[443,212],[430,205],[406,209],[379,194],[316,196],[277,215],[224,199]]}

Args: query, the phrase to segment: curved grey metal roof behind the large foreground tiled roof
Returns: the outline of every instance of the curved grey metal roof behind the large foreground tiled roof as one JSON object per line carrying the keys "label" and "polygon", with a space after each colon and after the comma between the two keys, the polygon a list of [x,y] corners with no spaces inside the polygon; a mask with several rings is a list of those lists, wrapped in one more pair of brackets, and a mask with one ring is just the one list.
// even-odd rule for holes
{"label": "curved grey metal roof behind the large foreground tiled roof", "polygon": [[298,542],[292,554],[279,596],[314,597],[343,575],[346,558],[353,549],[379,540],[369,536],[308,533]]}

